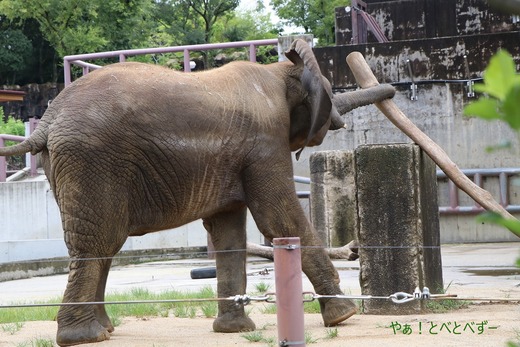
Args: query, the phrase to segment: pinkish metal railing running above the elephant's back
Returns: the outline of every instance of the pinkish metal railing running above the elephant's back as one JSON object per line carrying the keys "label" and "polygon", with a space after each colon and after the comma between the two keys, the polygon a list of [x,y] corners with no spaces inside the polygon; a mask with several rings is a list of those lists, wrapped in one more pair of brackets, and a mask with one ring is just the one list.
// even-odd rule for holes
{"label": "pinkish metal railing running above the elephant's back", "polygon": [[63,58],[64,80],[65,86],[72,82],[71,66],[76,65],[83,68],[83,74],[87,74],[90,70],[99,69],[101,66],[85,62],[83,60],[113,58],[118,57],[120,62],[126,60],[128,56],[144,55],[144,54],[159,54],[159,53],[184,53],[184,71],[190,72],[190,51],[207,51],[212,49],[227,49],[227,48],[244,48],[249,47],[249,60],[256,62],[256,48],[258,46],[272,46],[278,45],[278,39],[253,40],[253,41],[239,41],[239,42],[224,42],[224,43],[209,43],[202,45],[187,45],[175,47],[159,47],[159,48],[141,48],[141,49],[127,49],[120,51],[89,53],[68,55]]}

